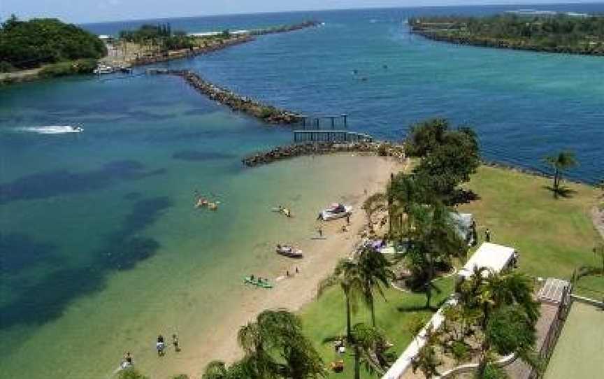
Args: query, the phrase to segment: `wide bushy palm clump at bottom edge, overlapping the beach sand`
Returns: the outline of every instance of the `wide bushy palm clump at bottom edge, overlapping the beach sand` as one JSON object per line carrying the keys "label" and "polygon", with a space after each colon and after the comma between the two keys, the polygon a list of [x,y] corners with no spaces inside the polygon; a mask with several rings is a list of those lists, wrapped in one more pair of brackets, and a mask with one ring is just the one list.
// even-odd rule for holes
{"label": "wide bushy palm clump at bottom edge, overlapping the beach sand", "polygon": [[323,362],[303,335],[299,318],[287,310],[265,310],[241,327],[238,343],[245,357],[227,366],[211,362],[205,379],[305,379],[324,376]]}

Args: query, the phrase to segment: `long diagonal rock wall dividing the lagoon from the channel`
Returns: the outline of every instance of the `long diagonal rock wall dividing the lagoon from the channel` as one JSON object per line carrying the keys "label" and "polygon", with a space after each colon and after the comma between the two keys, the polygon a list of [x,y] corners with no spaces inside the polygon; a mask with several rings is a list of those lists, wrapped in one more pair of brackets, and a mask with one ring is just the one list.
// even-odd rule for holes
{"label": "long diagonal rock wall dividing the lagoon from the channel", "polygon": [[227,88],[208,82],[208,80],[201,78],[199,74],[190,70],[155,70],[152,72],[180,76],[189,85],[210,99],[228,106],[231,110],[247,113],[269,124],[293,124],[302,119],[299,113],[269,106],[250,97],[241,96]]}

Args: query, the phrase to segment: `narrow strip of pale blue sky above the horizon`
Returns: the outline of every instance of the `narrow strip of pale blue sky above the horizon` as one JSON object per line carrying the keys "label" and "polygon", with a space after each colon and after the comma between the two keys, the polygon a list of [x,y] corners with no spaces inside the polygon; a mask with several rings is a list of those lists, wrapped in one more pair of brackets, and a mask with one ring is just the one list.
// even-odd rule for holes
{"label": "narrow strip of pale blue sky above the horizon", "polygon": [[220,15],[438,5],[508,3],[589,3],[594,0],[0,0],[0,18],[58,17],[67,22],[140,20],[157,17]]}

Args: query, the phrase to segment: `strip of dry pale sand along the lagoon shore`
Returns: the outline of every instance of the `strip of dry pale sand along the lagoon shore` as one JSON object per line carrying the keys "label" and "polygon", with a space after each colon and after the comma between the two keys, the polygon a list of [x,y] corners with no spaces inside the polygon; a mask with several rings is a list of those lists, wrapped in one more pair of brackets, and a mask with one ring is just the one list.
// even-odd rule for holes
{"label": "strip of dry pale sand along the lagoon shore", "polygon": [[[329,159],[329,158],[328,158]],[[275,278],[277,285],[270,290],[250,287],[245,301],[225,317],[213,331],[203,335],[200,341],[189,341],[194,346],[187,352],[182,352],[174,373],[186,373],[189,377],[197,378],[204,367],[213,359],[233,362],[240,358],[243,352],[237,345],[237,332],[241,325],[250,322],[262,310],[287,308],[299,310],[301,306],[315,298],[317,285],[329,276],[338,260],[347,257],[361,241],[360,233],[366,226],[366,217],[360,209],[363,201],[374,192],[384,189],[390,173],[403,169],[403,164],[394,159],[368,156],[363,158],[361,170],[367,170],[370,175],[359,180],[354,188],[348,188],[343,199],[354,206],[350,217],[348,231],[343,232],[345,219],[322,222],[324,239],[309,238],[296,241],[296,246],[305,254],[303,259],[292,259],[280,268],[280,274]],[[308,220],[312,227],[319,222]],[[318,236],[318,234],[316,234]],[[294,274],[298,267],[299,273]],[[285,271],[290,277],[285,277]],[[168,374],[168,373],[166,373]]]}

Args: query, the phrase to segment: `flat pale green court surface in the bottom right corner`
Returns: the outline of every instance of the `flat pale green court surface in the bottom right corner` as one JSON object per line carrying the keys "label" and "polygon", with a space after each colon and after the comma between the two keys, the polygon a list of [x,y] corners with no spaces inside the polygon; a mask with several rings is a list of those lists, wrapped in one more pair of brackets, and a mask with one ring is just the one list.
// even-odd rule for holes
{"label": "flat pale green court surface in the bottom right corner", "polygon": [[545,379],[602,378],[604,311],[575,301],[566,319]]}

